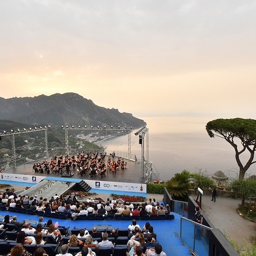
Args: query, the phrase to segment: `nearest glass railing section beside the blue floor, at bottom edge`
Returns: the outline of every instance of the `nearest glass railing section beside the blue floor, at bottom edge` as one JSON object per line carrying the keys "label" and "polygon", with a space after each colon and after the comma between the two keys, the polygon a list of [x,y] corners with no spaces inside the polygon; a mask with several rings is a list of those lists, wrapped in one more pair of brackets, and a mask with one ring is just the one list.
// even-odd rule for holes
{"label": "nearest glass railing section beside the blue floor, at bottom edge", "polygon": [[184,217],[180,218],[180,237],[183,243],[197,255],[208,255],[210,230],[210,227]]}

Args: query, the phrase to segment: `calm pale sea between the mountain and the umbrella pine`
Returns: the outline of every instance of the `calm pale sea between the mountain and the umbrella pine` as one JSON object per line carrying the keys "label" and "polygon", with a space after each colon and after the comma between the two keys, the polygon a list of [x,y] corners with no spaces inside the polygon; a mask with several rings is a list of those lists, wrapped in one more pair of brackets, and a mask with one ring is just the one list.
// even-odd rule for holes
{"label": "calm pale sea between the mountain and the umbrella pine", "polygon": [[[223,138],[210,138],[206,132],[208,117],[193,116],[157,116],[138,117],[148,128],[148,144],[144,138],[144,156],[148,146],[148,162],[152,162],[154,172],[160,174],[160,180],[168,180],[183,169],[189,172],[202,172],[211,176],[221,170],[227,177],[238,177],[239,167],[235,159],[234,148]],[[141,159],[141,144],[135,129],[131,133],[131,154]],[[118,136],[99,143],[108,154],[113,151],[128,152],[128,136]],[[246,162],[248,156],[242,158]],[[256,164],[251,165],[246,176],[256,174]]]}

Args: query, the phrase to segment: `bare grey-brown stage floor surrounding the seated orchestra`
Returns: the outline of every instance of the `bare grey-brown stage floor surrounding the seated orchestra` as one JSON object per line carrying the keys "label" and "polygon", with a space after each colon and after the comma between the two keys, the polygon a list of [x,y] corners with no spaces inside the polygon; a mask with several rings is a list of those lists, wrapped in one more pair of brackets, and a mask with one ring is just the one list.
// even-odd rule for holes
{"label": "bare grey-brown stage floor surrounding the seated orchestra", "polygon": [[[105,161],[108,159],[108,157],[105,159]],[[118,157],[115,157],[114,160],[117,160]],[[50,160],[50,158],[48,158],[47,160]],[[39,162],[42,162],[44,160],[39,160]],[[50,174],[47,174],[46,172],[44,173],[35,173],[33,170],[33,164],[36,163],[37,161],[33,161],[30,163],[26,163],[23,165],[19,165],[16,167],[16,169],[11,168],[11,169],[7,169],[4,171],[5,174],[18,174],[18,175],[34,175],[34,176],[42,176],[42,177],[48,177],[48,178],[64,178],[65,180],[67,179],[67,181],[71,181],[73,179],[82,179],[82,180],[102,180],[102,181],[114,181],[114,182],[125,182],[125,183],[143,183],[144,184],[144,180],[141,178],[141,161],[132,161],[132,160],[128,160],[128,159],[124,159],[125,162],[127,162],[126,168],[125,169],[121,169],[119,167],[119,170],[116,173],[113,173],[112,171],[110,172],[106,172],[106,175],[102,176],[102,178],[100,178],[99,175],[97,175],[96,177],[90,177],[88,174],[86,174],[86,176],[80,176],[78,175],[77,172],[77,168],[75,168],[73,170],[73,168],[71,167],[71,174],[72,177],[63,177],[60,174],[59,175],[55,175],[53,172],[50,172]],[[145,172],[145,169],[144,169]]]}

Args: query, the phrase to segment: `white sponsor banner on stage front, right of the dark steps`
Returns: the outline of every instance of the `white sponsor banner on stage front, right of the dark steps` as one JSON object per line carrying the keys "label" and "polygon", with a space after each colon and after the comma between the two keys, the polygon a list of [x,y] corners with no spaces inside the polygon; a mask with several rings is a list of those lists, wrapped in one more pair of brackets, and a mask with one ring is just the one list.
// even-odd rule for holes
{"label": "white sponsor banner on stage front, right of the dark steps", "polygon": [[84,181],[92,188],[146,193],[146,184],[142,184],[142,183],[123,183],[123,182],[102,181],[102,180],[100,181],[84,180]]}

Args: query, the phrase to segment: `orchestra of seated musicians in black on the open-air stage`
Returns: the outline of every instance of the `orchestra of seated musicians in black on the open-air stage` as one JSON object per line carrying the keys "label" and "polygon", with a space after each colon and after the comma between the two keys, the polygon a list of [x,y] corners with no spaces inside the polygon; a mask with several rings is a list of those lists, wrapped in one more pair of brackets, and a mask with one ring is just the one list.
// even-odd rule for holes
{"label": "orchestra of seated musicians in black on the open-air stage", "polygon": [[35,173],[50,174],[51,172],[55,175],[67,176],[71,175],[71,170],[76,170],[77,175],[81,177],[88,175],[90,177],[100,176],[100,178],[103,178],[103,176],[106,176],[110,171],[112,171],[112,173],[119,172],[119,167],[121,167],[121,170],[126,169],[127,163],[124,162],[123,159],[118,157],[115,161],[115,152],[110,155],[112,155],[112,159],[108,157],[105,163],[106,152],[99,155],[98,151],[94,154],[92,154],[91,151],[87,154],[81,151],[81,153],[77,153],[76,156],[66,154],[65,157],[63,157],[62,154],[59,156],[54,154],[50,161],[44,160],[42,163],[35,163],[33,170]]}

